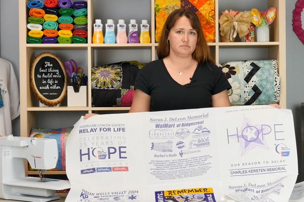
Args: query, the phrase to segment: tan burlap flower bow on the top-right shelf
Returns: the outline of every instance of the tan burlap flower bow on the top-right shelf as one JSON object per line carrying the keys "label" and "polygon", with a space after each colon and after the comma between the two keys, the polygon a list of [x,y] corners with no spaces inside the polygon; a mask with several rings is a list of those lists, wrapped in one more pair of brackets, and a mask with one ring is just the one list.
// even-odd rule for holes
{"label": "tan burlap flower bow on the top-right shelf", "polygon": [[239,33],[240,38],[248,34],[252,20],[249,11],[224,11],[219,16],[221,42],[233,42]]}

